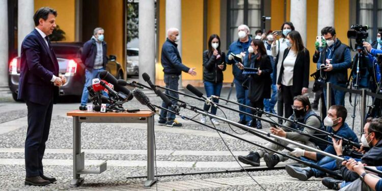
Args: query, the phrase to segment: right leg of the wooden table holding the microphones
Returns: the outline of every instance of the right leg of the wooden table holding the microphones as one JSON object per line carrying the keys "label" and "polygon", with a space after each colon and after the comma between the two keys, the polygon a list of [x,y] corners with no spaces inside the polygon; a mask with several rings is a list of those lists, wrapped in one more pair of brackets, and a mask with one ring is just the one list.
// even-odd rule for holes
{"label": "right leg of the wooden table holding the microphones", "polygon": [[151,116],[147,118],[147,180],[144,187],[150,187],[156,180],[154,177],[154,116]]}

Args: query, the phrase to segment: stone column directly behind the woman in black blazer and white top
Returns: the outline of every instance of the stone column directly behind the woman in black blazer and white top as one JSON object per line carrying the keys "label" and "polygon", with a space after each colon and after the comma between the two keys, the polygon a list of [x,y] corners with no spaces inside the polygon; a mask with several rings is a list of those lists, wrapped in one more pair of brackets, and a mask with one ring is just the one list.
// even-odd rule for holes
{"label": "stone column directly behind the woman in black blazer and white top", "polygon": [[307,0],[290,0],[290,21],[307,44]]}

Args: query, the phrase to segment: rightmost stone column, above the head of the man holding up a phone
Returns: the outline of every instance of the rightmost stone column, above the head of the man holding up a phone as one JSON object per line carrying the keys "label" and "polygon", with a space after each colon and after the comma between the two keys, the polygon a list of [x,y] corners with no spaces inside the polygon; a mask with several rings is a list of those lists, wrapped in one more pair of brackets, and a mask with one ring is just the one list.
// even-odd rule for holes
{"label": "rightmost stone column, above the head of the man holding up a phone", "polygon": [[318,0],[317,36],[325,26],[334,26],[334,0]]}

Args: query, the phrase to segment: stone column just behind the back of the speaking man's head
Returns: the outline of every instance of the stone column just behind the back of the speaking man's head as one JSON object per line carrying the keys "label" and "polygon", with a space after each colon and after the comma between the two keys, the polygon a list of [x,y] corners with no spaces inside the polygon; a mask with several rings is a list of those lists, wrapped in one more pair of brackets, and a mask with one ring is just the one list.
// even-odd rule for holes
{"label": "stone column just behind the back of the speaking man's head", "polygon": [[21,54],[21,43],[25,36],[33,31],[35,22],[33,15],[35,14],[35,3],[31,0],[18,0],[18,16],[17,16],[17,44],[18,56]]}

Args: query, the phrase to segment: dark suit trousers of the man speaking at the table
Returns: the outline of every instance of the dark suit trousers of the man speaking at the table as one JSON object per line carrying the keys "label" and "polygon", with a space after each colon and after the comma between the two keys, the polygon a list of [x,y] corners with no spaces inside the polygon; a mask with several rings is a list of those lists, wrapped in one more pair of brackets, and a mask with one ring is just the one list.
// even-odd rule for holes
{"label": "dark suit trousers of the man speaking at the table", "polygon": [[46,104],[26,101],[28,106],[28,129],[25,139],[26,177],[43,175],[42,157],[45,142],[48,140],[50,120],[52,117],[53,99]]}

